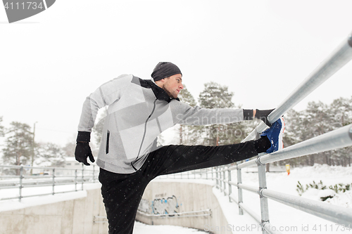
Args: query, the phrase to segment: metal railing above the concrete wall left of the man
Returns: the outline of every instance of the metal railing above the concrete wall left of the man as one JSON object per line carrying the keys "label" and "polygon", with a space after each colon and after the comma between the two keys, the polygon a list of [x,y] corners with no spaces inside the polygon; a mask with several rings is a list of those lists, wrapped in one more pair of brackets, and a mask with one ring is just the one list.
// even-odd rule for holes
{"label": "metal railing above the concrete wall left of the man", "polygon": [[[94,165],[92,169],[86,169],[83,164],[82,169],[0,165],[0,169],[3,171],[0,174],[0,200],[18,199],[21,201],[24,197],[75,192],[83,190],[84,183],[99,182],[99,169],[96,169]],[[6,170],[7,173],[4,173]],[[28,172],[32,170],[39,170],[41,173],[31,174]],[[60,186],[60,190],[58,190],[58,186]],[[63,186],[68,186],[68,188],[63,188]],[[43,189],[29,191],[30,188],[39,187]]]}

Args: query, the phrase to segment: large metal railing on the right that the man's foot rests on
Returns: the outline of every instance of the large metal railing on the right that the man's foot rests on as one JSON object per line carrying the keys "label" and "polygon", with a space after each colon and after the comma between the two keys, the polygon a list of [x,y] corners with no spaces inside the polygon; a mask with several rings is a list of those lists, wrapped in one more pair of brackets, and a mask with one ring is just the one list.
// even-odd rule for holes
{"label": "large metal railing on the right that the man's foot rests on", "polygon": [[[287,98],[268,116],[269,121],[275,122],[287,111],[291,110],[309,93],[314,91],[318,86],[324,83],[329,77],[337,72],[341,67],[346,65],[352,59],[352,34],[343,41],[335,51],[325,59],[320,65],[305,79],[303,82],[291,93]],[[244,141],[258,139],[260,133],[268,126],[261,122],[256,129],[254,129]],[[243,141],[243,142],[244,142]],[[331,131],[327,134],[311,138],[308,141],[291,145],[287,148],[272,152],[270,154],[260,154],[255,160],[248,162],[237,163],[234,166],[222,166],[215,168],[216,187],[219,188],[224,195],[229,197],[230,201],[234,201],[239,205],[239,214],[244,214],[244,211],[253,217],[261,226],[263,233],[280,233],[270,225],[268,199],[275,200],[290,207],[294,207],[303,212],[313,214],[322,219],[339,223],[344,226],[352,226],[352,212],[351,209],[338,207],[333,204],[325,204],[308,200],[303,197],[296,197],[279,193],[267,188],[265,164],[270,162],[277,162],[280,160],[287,160],[294,157],[301,157],[303,155],[310,155],[317,152],[327,150],[334,150],[344,148],[352,145],[352,124],[341,127],[340,129]],[[247,167],[258,167],[258,187],[247,186],[242,183],[241,169]],[[231,171],[237,170],[237,183],[231,179]],[[208,172],[205,172],[208,178]],[[195,173],[194,173],[195,174]],[[211,178],[214,179],[213,169],[210,171]],[[227,176],[226,176],[227,174]],[[182,176],[182,175],[181,175]],[[176,176],[174,175],[174,178]],[[180,178],[180,175],[177,177]],[[182,177],[181,177],[182,178]],[[232,186],[236,186],[238,190],[238,199],[233,196]],[[260,197],[260,215],[253,212],[243,202],[243,190],[248,190],[252,193],[257,193]]]}

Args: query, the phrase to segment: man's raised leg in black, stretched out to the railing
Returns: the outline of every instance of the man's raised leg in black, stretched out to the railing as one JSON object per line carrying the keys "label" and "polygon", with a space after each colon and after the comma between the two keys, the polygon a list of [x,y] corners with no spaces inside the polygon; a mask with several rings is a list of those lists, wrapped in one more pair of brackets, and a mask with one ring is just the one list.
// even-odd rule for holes
{"label": "man's raised leg in black, stretched out to the railing", "polygon": [[230,164],[256,156],[259,152],[265,152],[270,145],[266,137],[233,145],[168,145],[151,152],[153,157],[149,157],[148,160],[153,166],[149,167],[151,169],[149,174],[156,177]]}

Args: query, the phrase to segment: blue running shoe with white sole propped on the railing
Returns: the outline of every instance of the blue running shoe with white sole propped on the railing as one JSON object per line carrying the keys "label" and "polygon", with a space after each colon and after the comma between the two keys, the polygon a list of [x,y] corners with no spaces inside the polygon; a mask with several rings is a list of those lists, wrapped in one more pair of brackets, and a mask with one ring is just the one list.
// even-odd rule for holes
{"label": "blue running shoe with white sole propped on the railing", "polygon": [[280,117],[276,122],[270,126],[269,129],[260,134],[260,136],[267,136],[271,143],[271,147],[266,150],[266,152],[275,152],[284,148],[284,143],[282,142],[282,135],[284,134],[285,123],[284,118]]}

